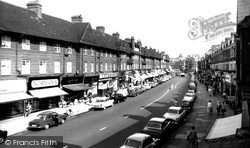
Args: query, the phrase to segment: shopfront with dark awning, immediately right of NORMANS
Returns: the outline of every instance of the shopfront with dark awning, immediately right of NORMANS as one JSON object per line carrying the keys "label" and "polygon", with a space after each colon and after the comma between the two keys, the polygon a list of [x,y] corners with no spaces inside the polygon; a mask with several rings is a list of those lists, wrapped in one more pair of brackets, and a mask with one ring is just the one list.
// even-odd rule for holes
{"label": "shopfront with dark awning, immediately right of NORMANS", "polygon": [[65,96],[64,100],[66,102],[73,103],[75,99],[78,101],[82,101],[83,99],[87,99],[85,94],[89,89],[92,89],[89,85],[85,85],[83,83],[84,76],[70,76],[63,77],[61,81],[61,85],[64,91],[68,93]]}

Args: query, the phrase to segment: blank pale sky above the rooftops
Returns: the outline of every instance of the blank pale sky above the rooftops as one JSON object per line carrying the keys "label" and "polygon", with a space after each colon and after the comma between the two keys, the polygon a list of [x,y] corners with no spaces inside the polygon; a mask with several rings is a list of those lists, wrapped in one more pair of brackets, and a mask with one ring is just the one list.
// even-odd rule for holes
{"label": "blank pale sky above the rooftops", "polygon": [[[31,0],[2,0],[27,8]],[[212,45],[220,44],[235,25],[207,40],[204,36],[190,39],[193,18],[207,20],[227,14],[230,22],[236,23],[237,0],[39,0],[42,13],[71,21],[74,15],[82,15],[93,29],[104,26],[105,33],[120,34],[121,39],[141,40],[142,46],[164,51],[171,58],[198,54],[204,55]],[[215,19],[216,20],[216,19]],[[201,27],[195,29],[200,30]]]}

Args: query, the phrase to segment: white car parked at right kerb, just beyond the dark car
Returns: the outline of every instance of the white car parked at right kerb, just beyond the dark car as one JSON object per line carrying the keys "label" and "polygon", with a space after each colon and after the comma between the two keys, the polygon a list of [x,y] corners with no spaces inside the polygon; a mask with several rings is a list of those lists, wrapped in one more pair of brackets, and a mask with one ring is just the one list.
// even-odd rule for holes
{"label": "white car parked at right kerb, just beyond the dark car", "polygon": [[181,107],[171,106],[168,111],[163,115],[163,118],[171,120],[173,124],[180,124],[181,122],[186,121],[187,112]]}

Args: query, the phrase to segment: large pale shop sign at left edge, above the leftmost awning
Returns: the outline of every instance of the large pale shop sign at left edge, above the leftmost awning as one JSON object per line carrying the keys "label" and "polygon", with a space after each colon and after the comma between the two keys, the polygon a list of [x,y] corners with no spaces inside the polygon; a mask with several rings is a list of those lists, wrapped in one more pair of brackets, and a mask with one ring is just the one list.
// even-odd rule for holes
{"label": "large pale shop sign at left edge, above the leftmost awning", "polygon": [[25,92],[26,90],[26,80],[24,79],[0,81],[0,95],[13,92]]}

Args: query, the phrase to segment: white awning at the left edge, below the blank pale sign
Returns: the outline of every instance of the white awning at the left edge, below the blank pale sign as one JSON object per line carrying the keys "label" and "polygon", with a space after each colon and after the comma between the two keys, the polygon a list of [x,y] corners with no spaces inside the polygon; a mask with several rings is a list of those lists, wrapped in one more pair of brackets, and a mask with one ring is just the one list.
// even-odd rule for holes
{"label": "white awning at the left edge, below the blank pale sign", "polygon": [[21,101],[26,99],[34,98],[31,95],[26,94],[25,92],[15,92],[0,95],[0,103],[8,103],[14,101]]}

